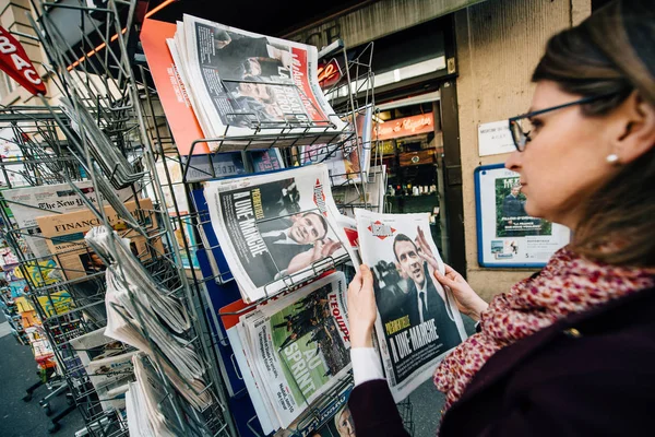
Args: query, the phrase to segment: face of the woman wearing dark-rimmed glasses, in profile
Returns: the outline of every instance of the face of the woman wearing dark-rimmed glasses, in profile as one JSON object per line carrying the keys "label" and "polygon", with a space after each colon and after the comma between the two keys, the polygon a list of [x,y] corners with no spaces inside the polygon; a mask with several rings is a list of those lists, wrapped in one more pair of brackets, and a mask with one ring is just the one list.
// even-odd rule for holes
{"label": "face of the woman wearing dark-rimmed glasses, in profile", "polygon": [[[580,98],[555,82],[541,81],[529,111]],[[575,228],[586,200],[618,172],[606,160],[614,151],[604,117],[585,117],[573,105],[539,115],[532,122],[525,151],[512,153],[505,167],[521,175],[529,215]]]}

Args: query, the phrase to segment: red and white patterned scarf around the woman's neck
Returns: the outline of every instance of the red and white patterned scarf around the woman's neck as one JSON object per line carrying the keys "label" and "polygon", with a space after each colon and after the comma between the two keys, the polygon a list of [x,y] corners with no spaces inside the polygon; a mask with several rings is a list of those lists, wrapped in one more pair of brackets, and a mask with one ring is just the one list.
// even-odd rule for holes
{"label": "red and white patterned scarf around the woman's neck", "polygon": [[460,344],[434,371],[437,389],[445,393],[445,412],[473,376],[500,349],[565,317],[629,293],[653,287],[655,275],[643,269],[599,264],[567,247],[557,251],[535,277],[493,297],[481,315],[481,331]]}

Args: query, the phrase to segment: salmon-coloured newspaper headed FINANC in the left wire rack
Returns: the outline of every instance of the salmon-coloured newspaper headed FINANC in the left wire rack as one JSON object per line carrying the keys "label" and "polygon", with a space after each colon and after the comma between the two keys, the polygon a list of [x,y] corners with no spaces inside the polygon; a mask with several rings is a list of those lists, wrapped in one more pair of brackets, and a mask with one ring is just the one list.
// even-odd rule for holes
{"label": "salmon-coloured newspaper headed FINANC in the left wire rack", "polygon": [[[148,231],[157,227],[157,217],[152,212],[153,202],[150,199],[142,199],[136,202],[126,203],[128,211],[138,216]],[[132,253],[142,259],[150,258],[146,247],[146,240],[134,231],[128,231],[126,223],[118,216],[111,206],[105,206],[105,214],[108,223],[117,231],[124,233],[124,237],[130,238],[130,249]],[[47,238],[48,249],[57,258],[57,263],[68,280],[83,277],[87,274],[104,271],[106,265],[99,257],[92,250],[88,250],[84,241],[84,235],[94,226],[102,225],[102,221],[90,210],[69,212],[58,215],[45,215],[36,217],[36,222],[41,229],[44,237]],[[155,241],[157,250],[164,252],[160,240]]]}

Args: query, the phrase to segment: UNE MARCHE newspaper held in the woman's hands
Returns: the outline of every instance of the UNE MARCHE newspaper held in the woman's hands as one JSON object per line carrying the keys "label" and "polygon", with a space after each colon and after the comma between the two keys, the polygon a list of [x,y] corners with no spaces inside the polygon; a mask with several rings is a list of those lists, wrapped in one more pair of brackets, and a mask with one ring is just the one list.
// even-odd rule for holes
{"label": "UNE MARCHE newspaper held in the woman's hands", "polygon": [[430,378],[466,333],[450,291],[433,277],[444,267],[428,214],[356,210],[356,216],[361,259],[373,271],[383,368],[398,402]]}

